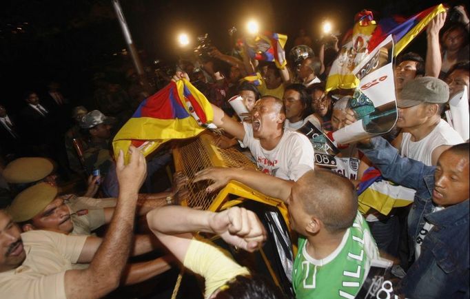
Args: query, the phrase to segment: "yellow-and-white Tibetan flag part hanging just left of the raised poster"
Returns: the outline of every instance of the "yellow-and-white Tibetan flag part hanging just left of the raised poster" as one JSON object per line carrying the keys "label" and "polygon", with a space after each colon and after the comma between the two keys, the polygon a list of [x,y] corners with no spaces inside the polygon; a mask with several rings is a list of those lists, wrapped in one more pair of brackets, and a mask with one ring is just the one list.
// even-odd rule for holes
{"label": "yellow-and-white Tibetan flag part hanging just left of the raised poster", "polygon": [[352,71],[369,54],[369,40],[377,25],[369,10],[362,10],[356,14],[354,20],[356,23],[353,29],[346,34],[343,47],[331,65],[326,92],[336,89],[349,90],[359,84],[359,79]]}

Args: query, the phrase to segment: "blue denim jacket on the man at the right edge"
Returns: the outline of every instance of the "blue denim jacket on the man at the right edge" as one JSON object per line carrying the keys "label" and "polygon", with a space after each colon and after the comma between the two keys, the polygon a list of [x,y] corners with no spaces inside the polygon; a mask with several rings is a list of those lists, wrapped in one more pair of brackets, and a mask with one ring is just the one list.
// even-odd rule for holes
{"label": "blue denim jacket on the man at the right edge", "polygon": [[383,138],[371,142],[372,148],[360,150],[382,176],[416,189],[408,217],[412,254],[420,229],[426,222],[434,225],[422,242],[419,258],[401,282],[407,298],[469,298],[469,199],[431,213],[436,167],[402,158]]}

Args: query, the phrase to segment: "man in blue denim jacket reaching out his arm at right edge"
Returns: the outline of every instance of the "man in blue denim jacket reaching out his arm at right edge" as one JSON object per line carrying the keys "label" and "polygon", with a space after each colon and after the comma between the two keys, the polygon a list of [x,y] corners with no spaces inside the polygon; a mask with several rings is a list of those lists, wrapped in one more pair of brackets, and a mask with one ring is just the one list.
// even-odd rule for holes
{"label": "man in blue denim jacket reaching out his arm at right edge", "polygon": [[445,150],[436,166],[402,158],[378,137],[358,146],[382,176],[416,189],[408,216],[415,262],[401,281],[407,298],[469,294],[469,143]]}

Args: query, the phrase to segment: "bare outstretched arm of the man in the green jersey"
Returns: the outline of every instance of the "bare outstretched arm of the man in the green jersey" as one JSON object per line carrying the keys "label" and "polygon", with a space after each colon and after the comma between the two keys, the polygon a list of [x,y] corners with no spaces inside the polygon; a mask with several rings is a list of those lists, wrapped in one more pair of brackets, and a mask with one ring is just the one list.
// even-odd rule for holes
{"label": "bare outstretched arm of the man in the green jersey", "polygon": [[269,176],[262,172],[254,172],[252,170],[238,168],[212,167],[201,170],[196,174],[194,181],[214,181],[212,185],[207,187],[207,192],[214,192],[216,189],[225,187],[230,180],[238,181],[251,187],[259,192],[279,198],[284,202],[287,201],[294,182],[285,181],[282,178]]}

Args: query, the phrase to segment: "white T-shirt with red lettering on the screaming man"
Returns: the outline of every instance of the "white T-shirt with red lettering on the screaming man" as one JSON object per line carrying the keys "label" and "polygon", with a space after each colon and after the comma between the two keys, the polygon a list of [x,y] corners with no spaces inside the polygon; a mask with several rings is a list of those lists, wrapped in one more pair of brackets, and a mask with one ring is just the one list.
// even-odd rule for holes
{"label": "white T-shirt with red lettering on the screaming man", "polygon": [[253,137],[251,124],[243,123],[243,127],[243,144],[252,152],[256,165],[265,174],[297,181],[305,172],[314,169],[314,147],[305,135],[285,130],[278,145],[267,150],[261,147],[259,139]]}

